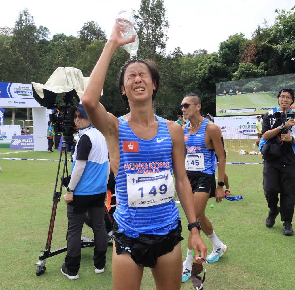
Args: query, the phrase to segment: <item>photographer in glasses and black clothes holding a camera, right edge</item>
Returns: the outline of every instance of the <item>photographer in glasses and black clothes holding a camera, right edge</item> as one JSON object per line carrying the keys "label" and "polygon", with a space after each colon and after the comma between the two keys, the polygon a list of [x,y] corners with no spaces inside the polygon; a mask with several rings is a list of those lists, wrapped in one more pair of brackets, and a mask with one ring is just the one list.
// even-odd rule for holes
{"label": "photographer in glasses and black clothes holding a camera, right edge", "polygon": [[[276,217],[281,211],[281,221],[284,222],[284,235],[293,236],[292,219],[295,205],[295,121],[290,105],[294,103],[294,90],[283,88],[279,90],[278,108],[273,108],[263,117],[262,138],[259,144],[259,150],[267,142],[270,152],[276,154],[268,155],[263,152],[263,189],[268,202],[269,213],[266,218],[266,226],[271,228]],[[278,111],[282,118],[274,118],[273,114]],[[280,113],[275,115],[280,116]],[[286,114],[287,113],[287,114]],[[286,116],[284,116],[286,114]],[[289,130],[286,130],[289,128]],[[278,145],[279,142],[281,145]],[[276,148],[276,149],[275,149]],[[262,148],[263,149],[263,148]],[[275,149],[275,150],[273,150]],[[280,206],[278,206],[278,193],[280,195]]]}

